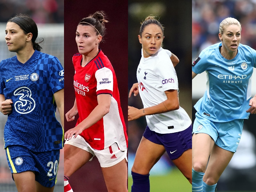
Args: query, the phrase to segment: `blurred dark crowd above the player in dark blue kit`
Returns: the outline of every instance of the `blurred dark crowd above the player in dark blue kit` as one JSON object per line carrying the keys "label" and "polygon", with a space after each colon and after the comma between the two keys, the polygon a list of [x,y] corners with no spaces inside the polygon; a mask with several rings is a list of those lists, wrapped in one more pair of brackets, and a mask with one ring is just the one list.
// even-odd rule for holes
{"label": "blurred dark crowd above the player in dark blue kit", "polygon": [[28,14],[36,23],[63,23],[63,0],[0,0],[0,22],[17,13]]}

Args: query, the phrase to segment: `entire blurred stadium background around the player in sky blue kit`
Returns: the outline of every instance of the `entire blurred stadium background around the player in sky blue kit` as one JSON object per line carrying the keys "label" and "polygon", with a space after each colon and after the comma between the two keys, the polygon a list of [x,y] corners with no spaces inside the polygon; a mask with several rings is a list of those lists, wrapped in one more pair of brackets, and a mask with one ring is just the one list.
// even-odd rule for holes
{"label": "entire blurred stadium background around the player in sky blue kit", "polygon": [[[256,49],[255,0],[192,0],[192,62],[207,46],[220,42],[219,25],[234,17],[242,24],[241,43]],[[252,78],[252,96],[256,94],[256,70]],[[192,81],[193,106],[206,90],[206,74]],[[195,109],[193,109],[193,120]],[[240,144],[217,184],[217,191],[256,191],[256,115],[244,121]]]}

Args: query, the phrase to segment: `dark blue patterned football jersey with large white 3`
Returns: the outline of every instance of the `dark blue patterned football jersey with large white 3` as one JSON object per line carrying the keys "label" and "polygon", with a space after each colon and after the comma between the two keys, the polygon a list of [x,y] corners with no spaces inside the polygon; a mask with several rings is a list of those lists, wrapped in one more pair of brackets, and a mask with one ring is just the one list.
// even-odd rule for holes
{"label": "dark blue patterned football jersey with large white 3", "polygon": [[53,94],[64,88],[64,69],[52,56],[35,51],[24,64],[17,56],[0,63],[0,94],[11,99],[4,147],[22,145],[42,152],[62,148],[63,128],[55,117]]}

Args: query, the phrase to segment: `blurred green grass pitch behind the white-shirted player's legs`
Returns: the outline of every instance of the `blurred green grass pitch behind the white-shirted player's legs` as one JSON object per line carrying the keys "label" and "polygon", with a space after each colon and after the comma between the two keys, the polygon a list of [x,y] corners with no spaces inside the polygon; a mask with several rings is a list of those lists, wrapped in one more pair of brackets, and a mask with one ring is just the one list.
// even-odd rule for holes
{"label": "blurred green grass pitch behind the white-shirted player's legs", "polygon": [[[191,192],[192,186],[177,168],[163,176],[149,176],[150,192]],[[132,177],[128,177],[128,191],[131,192]]]}

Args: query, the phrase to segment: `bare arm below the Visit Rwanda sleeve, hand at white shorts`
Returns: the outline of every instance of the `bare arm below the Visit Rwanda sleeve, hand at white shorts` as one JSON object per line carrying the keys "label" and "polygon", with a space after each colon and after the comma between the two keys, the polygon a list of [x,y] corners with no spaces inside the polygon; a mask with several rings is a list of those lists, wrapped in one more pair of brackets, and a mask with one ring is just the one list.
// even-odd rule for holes
{"label": "bare arm below the Visit Rwanda sleeve, hand at white shorts", "polygon": [[69,129],[65,135],[64,139],[70,139],[74,134],[75,138],[78,134],[81,134],[85,129],[91,127],[93,124],[97,123],[102,117],[104,117],[110,108],[111,103],[110,94],[99,94],[97,96],[98,105],[92,110],[90,115],[86,117],[81,123],[79,123],[75,128]]}

